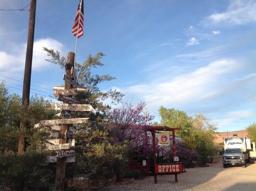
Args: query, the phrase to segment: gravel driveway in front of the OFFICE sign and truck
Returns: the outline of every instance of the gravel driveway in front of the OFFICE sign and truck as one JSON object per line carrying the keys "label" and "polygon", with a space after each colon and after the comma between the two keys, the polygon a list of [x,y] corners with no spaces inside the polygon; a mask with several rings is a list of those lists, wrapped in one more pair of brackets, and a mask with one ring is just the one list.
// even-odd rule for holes
{"label": "gravel driveway in front of the OFFICE sign and truck", "polygon": [[157,176],[132,183],[118,183],[100,189],[100,191],[256,191],[256,164],[246,168],[223,168],[222,161],[210,164],[210,167],[186,169],[178,175]]}

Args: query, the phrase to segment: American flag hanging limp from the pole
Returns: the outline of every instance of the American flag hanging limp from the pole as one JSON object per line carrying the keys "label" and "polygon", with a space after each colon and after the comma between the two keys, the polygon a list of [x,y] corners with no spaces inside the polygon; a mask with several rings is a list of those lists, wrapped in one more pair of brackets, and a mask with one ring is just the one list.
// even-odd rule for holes
{"label": "American flag hanging limp from the pole", "polygon": [[[79,25],[79,26],[78,26]],[[78,4],[78,11],[75,19],[75,23],[72,28],[74,36],[80,38],[84,34],[84,0],[80,0]]]}

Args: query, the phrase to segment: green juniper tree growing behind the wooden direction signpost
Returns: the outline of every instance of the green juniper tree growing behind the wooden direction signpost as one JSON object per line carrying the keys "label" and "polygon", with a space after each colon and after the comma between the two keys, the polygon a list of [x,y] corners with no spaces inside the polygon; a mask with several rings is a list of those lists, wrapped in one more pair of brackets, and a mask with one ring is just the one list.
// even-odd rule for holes
{"label": "green juniper tree growing behind the wooden direction signpost", "polygon": [[[65,69],[66,58],[61,57],[58,51],[44,48],[50,59],[48,62],[59,65]],[[67,166],[67,177],[85,177],[97,182],[107,180],[116,172],[122,171],[127,163],[127,141],[116,142],[112,137],[112,126],[107,120],[110,106],[104,100],[119,102],[123,94],[116,90],[100,91],[99,84],[115,79],[109,74],[93,74],[92,69],[103,66],[101,58],[103,53],[95,56],[89,55],[82,64],[76,63],[75,72],[78,75],[78,84],[88,86],[89,90],[76,95],[79,104],[90,104],[95,112],[72,112],[77,117],[89,117],[87,123],[77,125],[76,133],[76,163]],[[71,168],[72,166],[72,168]]]}

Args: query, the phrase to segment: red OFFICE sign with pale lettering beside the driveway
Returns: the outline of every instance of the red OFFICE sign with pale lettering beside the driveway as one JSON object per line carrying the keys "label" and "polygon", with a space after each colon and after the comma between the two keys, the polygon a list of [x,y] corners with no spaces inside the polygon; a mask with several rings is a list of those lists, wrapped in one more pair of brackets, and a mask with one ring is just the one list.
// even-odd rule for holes
{"label": "red OFFICE sign with pale lettering beside the driveway", "polygon": [[183,172],[182,163],[155,164],[155,174],[170,174]]}

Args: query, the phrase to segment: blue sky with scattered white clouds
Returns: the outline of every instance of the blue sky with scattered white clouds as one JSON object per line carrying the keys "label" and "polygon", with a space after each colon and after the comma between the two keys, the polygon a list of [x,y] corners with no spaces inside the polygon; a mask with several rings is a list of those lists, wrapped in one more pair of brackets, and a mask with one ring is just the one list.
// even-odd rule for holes
{"label": "blue sky with scattered white clouds", "polygon": [[[31,95],[51,99],[52,86],[64,84],[64,71],[45,61],[42,48],[75,52],[78,1],[37,0]],[[0,9],[29,3],[1,0]],[[0,11],[0,82],[18,95],[28,8]],[[256,0],[84,0],[84,18],[77,62],[105,54],[105,65],[93,73],[116,79],[102,83],[102,91],[117,89],[123,102],[145,102],[158,122],[160,106],[203,114],[220,132],[256,121]]]}

